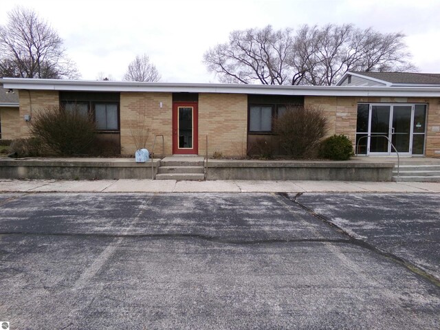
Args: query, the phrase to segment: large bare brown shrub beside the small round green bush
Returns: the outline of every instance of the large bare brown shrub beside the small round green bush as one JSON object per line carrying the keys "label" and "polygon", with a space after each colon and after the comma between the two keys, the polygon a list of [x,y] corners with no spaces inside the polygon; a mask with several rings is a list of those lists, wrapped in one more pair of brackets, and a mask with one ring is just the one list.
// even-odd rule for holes
{"label": "large bare brown shrub beside the small round green bush", "polygon": [[314,155],[327,130],[328,120],[318,107],[288,105],[285,113],[274,119],[281,148],[295,158]]}

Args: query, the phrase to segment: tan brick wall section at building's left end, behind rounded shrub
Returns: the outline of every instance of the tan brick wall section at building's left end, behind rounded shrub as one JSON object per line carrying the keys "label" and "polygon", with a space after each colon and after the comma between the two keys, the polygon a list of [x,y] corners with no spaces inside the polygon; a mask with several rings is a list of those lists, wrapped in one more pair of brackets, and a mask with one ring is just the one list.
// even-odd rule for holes
{"label": "tan brick wall section at building's left end, behind rounded shrub", "polygon": [[29,124],[25,122],[24,115],[31,115],[31,120],[36,113],[45,108],[59,107],[60,100],[58,91],[19,91],[20,116],[19,127],[20,137],[29,136]]}

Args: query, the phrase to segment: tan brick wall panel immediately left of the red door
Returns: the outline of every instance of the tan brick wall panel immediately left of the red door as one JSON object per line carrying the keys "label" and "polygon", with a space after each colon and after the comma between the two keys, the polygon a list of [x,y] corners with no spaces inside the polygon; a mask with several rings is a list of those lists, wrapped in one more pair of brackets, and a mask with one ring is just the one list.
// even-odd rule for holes
{"label": "tan brick wall panel immediately left of the red door", "polygon": [[[162,108],[160,108],[162,102]],[[136,133],[145,127],[149,130],[146,148],[151,151],[155,135],[163,134],[165,154],[171,155],[172,151],[172,109],[173,96],[170,93],[135,93],[122,92],[120,94],[120,130],[121,153],[133,155],[136,151],[131,130]],[[156,155],[162,153],[162,138],[158,137],[155,150]]]}

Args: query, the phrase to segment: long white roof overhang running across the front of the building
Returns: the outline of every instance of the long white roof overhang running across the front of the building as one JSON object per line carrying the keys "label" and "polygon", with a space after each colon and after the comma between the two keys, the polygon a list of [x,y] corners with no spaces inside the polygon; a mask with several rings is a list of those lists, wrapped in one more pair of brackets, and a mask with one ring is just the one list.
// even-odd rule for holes
{"label": "long white roof overhang running across the front of the building", "polygon": [[4,88],[47,91],[225,93],[289,96],[440,97],[440,87],[281,86],[195,83],[139,83],[96,80],[2,78]]}

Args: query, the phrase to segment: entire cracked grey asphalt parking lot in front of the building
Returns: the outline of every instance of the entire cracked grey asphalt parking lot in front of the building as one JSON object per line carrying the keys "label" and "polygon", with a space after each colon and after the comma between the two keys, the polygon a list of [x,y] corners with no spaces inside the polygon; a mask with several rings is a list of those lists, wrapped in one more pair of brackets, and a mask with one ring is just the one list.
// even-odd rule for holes
{"label": "entire cracked grey asphalt parking lot in front of the building", "polygon": [[1,194],[0,320],[11,329],[439,329],[437,196]]}

